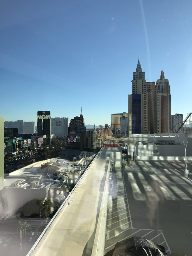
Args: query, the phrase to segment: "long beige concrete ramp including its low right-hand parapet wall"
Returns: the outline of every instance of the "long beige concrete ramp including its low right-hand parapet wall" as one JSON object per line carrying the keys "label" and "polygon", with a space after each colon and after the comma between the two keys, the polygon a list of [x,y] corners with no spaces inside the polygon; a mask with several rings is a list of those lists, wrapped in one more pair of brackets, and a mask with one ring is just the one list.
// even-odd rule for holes
{"label": "long beige concrete ramp including its low right-hand parapet wall", "polygon": [[104,254],[112,150],[100,150],[27,256]]}

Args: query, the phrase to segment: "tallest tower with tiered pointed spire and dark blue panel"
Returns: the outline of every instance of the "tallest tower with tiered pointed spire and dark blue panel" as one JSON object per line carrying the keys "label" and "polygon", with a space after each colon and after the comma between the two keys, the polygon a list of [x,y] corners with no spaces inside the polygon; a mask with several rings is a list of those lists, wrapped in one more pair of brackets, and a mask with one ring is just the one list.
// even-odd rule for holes
{"label": "tallest tower with tiered pointed spire and dark blue panel", "polygon": [[133,72],[132,94],[128,95],[128,118],[129,134],[149,133],[147,84],[139,60]]}

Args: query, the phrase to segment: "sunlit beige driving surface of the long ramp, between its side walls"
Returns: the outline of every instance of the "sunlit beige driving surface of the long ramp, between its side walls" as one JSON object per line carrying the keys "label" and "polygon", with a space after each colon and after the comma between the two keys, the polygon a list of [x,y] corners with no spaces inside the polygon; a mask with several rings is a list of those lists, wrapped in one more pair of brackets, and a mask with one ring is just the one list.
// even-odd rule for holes
{"label": "sunlit beige driving surface of the long ramp, between its side walls", "polygon": [[71,204],[63,206],[31,255],[91,254],[110,153],[101,150],[70,197]]}

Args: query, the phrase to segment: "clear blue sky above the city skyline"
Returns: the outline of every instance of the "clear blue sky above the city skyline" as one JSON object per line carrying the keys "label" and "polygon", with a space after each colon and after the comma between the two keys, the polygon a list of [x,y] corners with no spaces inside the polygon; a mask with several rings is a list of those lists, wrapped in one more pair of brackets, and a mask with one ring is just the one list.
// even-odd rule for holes
{"label": "clear blue sky above the city skyline", "polygon": [[111,124],[128,111],[138,58],[147,81],[164,70],[172,114],[191,108],[192,2],[0,2],[0,116],[35,121],[80,115]]}

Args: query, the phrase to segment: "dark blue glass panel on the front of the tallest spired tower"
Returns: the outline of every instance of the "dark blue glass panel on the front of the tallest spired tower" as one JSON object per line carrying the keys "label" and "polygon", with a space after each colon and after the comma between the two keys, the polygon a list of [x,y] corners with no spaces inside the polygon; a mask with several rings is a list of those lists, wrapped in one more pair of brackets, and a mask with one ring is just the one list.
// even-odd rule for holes
{"label": "dark blue glass panel on the front of the tallest spired tower", "polygon": [[132,134],[141,133],[141,94],[132,94]]}

